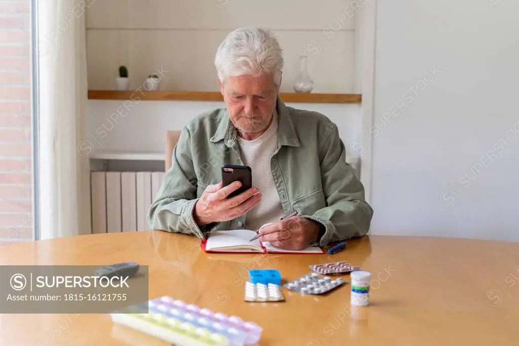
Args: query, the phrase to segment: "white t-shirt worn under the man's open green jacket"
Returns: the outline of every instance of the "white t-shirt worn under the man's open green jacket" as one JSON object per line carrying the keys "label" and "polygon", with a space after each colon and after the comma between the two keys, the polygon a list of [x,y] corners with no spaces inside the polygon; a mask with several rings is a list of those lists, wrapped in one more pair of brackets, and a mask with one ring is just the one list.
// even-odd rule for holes
{"label": "white t-shirt worn under the man's open green jacket", "polygon": [[278,190],[270,170],[270,158],[278,145],[278,116],[274,111],[274,119],[269,128],[258,138],[248,141],[238,138],[242,161],[252,169],[252,186],[260,190],[260,203],[247,212],[244,228],[257,231],[268,222],[276,222],[283,215],[283,208]]}

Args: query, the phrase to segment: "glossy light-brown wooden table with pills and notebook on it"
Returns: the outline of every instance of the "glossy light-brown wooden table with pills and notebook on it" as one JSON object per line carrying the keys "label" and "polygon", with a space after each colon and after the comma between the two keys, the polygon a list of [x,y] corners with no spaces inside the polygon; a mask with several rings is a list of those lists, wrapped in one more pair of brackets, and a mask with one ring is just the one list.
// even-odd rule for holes
{"label": "glossy light-brown wooden table with pills and notebook on it", "polygon": [[[372,273],[369,307],[350,306],[349,284],[325,297],[283,289],[283,303],[243,301],[248,269],[276,268],[292,280],[309,264],[337,260]],[[150,298],[170,295],[260,324],[261,345],[519,345],[519,243],[368,236],[334,256],[226,255],[156,231],[11,244],[0,254],[11,265],[122,261],[149,265]],[[107,314],[4,314],[0,329],[6,346],[165,344]]]}

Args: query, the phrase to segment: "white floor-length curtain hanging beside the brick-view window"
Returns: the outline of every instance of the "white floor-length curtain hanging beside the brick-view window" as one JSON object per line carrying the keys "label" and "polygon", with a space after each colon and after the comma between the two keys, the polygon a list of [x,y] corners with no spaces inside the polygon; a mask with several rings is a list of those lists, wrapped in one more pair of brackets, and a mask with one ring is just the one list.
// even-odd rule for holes
{"label": "white floor-length curtain hanging beside the brick-view window", "polygon": [[84,0],[38,1],[39,238],[90,233],[88,158],[79,155],[87,102]]}

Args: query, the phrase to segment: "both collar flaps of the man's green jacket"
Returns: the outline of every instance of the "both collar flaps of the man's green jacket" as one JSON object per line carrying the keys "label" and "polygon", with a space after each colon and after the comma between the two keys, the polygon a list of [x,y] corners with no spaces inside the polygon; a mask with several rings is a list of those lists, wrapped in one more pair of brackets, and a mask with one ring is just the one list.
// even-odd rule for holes
{"label": "both collar flaps of the man's green jacket", "polygon": [[[290,111],[286,105],[277,97],[276,111],[278,113],[278,143],[279,145],[290,145],[291,147],[299,147],[299,140],[295,132],[294,124],[290,116]],[[225,140],[227,147],[231,147],[236,141],[236,128],[230,121],[229,112],[226,108],[220,110],[221,121],[218,128],[211,137],[210,141],[215,143]]]}

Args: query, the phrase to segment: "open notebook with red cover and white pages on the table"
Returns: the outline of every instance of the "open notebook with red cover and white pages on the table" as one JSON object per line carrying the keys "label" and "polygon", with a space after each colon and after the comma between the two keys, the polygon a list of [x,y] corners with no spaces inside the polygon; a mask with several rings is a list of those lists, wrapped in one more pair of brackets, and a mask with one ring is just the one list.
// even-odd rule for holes
{"label": "open notebook with red cover and white pages on the table", "polygon": [[215,231],[202,240],[200,246],[206,252],[268,252],[272,254],[323,254],[318,246],[310,246],[304,250],[285,250],[269,242],[260,242],[258,239],[249,243],[256,235],[251,230]]}

